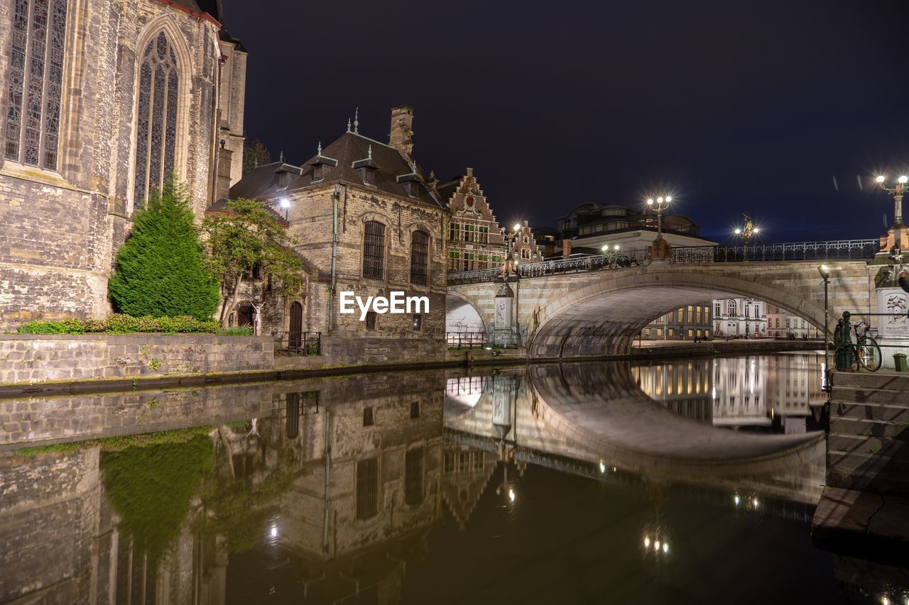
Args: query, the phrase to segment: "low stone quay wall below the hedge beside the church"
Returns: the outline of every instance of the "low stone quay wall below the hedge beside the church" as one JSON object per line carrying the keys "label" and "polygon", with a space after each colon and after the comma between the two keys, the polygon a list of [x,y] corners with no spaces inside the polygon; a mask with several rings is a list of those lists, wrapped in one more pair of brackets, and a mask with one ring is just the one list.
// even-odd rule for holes
{"label": "low stone quay wall below the hedge beside the church", "polygon": [[0,384],[271,370],[269,336],[0,335]]}

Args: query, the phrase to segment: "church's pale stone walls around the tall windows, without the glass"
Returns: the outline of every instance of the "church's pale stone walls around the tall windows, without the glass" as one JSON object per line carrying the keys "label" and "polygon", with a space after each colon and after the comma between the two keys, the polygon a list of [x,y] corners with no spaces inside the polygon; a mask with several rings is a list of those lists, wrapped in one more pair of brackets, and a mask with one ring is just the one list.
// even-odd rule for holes
{"label": "church's pale stone walls around the tall windows, without the glass", "polygon": [[[22,3],[26,11],[34,4]],[[175,106],[173,124],[163,127],[165,163],[173,157],[200,216],[214,194],[219,98],[231,103],[220,138],[242,149],[245,51],[229,36],[219,36],[221,15],[215,8],[202,8],[195,0],[60,0],[55,5],[65,6],[66,13],[59,144],[47,147],[56,153],[53,163],[30,162],[10,151],[15,144],[7,146],[13,140],[7,133],[15,125],[8,91],[15,83],[11,65],[17,8],[15,3],[0,5],[0,133],[5,137],[5,153],[0,154],[0,329],[36,318],[101,318],[108,312],[113,255],[142,202],[134,199],[139,115],[145,114],[140,106],[147,101],[139,94],[141,64],[159,35],[173,49],[178,83],[168,97]],[[17,36],[21,43],[22,35]],[[33,42],[30,36],[26,46]],[[221,94],[225,51],[229,90]],[[50,88],[45,92],[52,94]],[[42,124],[46,138],[52,134],[50,123]],[[167,143],[169,131],[173,144]],[[232,174],[239,174],[242,153],[234,153],[231,162]]]}

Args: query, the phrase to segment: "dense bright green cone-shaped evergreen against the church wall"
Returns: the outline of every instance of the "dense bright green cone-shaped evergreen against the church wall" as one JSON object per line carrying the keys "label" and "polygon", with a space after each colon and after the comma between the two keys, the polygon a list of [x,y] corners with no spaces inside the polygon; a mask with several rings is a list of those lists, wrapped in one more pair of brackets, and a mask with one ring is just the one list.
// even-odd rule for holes
{"label": "dense bright green cone-shaped evergreen against the church wall", "polygon": [[134,317],[211,318],[218,284],[205,267],[193,218],[183,184],[169,178],[161,191],[153,190],[116,254],[108,282],[116,311]]}

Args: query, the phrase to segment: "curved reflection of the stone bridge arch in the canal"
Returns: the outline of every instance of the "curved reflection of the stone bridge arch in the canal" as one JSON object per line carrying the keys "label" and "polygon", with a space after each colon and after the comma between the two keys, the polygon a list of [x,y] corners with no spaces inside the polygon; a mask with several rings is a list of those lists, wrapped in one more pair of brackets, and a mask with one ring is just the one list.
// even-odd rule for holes
{"label": "curved reflection of the stone bridge arch in the canal", "polygon": [[[754,434],[684,418],[644,394],[627,363],[532,364],[514,398],[519,451],[604,463],[670,481],[753,489],[814,502],[824,483],[823,432]],[[493,390],[469,410],[450,413],[445,428],[498,441]],[[783,486],[783,487],[781,487]]]}

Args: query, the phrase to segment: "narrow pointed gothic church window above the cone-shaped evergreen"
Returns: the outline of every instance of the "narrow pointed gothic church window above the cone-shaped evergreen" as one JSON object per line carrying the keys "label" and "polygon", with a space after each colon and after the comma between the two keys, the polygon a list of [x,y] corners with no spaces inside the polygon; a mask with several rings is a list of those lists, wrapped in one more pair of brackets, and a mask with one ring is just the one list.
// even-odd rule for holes
{"label": "narrow pointed gothic church window above the cone-shaped evergreen", "polygon": [[161,32],[145,46],[139,65],[138,127],[135,137],[134,203],[148,197],[174,172],[177,92],[176,55]]}

